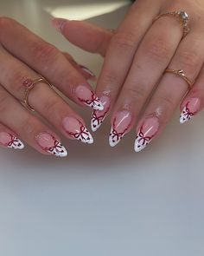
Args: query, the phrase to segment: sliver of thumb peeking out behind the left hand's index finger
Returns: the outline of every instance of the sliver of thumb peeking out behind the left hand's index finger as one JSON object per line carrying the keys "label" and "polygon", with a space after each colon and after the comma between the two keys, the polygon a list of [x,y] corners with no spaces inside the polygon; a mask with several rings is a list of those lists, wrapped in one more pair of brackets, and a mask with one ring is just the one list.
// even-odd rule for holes
{"label": "sliver of thumb peeking out behind the left hand's index finger", "polygon": [[86,68],[84,65],[75,62],[73,57],[67,52],[63,52],[62,54],[67,58],[67,61],[73,65],[73,68],[77,69],[80,74],[85,77],[86,80],[96,81],[96,75],[94,75],[94,73],[90,69]]}

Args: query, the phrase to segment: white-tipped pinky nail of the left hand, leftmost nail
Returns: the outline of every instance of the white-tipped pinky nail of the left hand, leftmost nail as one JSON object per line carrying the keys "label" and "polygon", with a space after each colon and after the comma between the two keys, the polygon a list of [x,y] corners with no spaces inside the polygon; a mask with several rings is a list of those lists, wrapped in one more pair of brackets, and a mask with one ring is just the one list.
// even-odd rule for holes
{"label": "white-tipped pinky nail of the left hand, leftmost nail", "polygon": [[12,149],[25,148],[22,141],[20,141],[15,135],[11,135],[6,132],[0,132],[0,143],[7,148],[12,148]]}

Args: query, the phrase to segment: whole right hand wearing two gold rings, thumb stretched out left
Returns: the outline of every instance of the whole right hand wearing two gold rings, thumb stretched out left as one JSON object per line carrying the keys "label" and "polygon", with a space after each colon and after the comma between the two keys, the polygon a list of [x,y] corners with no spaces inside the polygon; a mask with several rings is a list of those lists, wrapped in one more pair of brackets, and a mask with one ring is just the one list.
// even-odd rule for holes
{"label": "whole right hand wearing two gold rings, thumb stretched out left", "polygon": [[[181,16],[161,16],[154,21],[160,14],[180,10],[188,13],[190,22],[184,37]],[[161,134],[180,102],[181,123],[203,107],[202,0],[137,0],[114,35],[88,23],[55,19],[54,25],[71,43],[105,56],[97,86],[104,110],[93,112],[92,130],[99,128],[112,110],[111,146],[137,121],[135,150],[141,151]],[[89,46],[84,47],[88,38]],[[167,68],[182,69],[194,82],[193,89],[188,92],[184,77],[164,72]]]}

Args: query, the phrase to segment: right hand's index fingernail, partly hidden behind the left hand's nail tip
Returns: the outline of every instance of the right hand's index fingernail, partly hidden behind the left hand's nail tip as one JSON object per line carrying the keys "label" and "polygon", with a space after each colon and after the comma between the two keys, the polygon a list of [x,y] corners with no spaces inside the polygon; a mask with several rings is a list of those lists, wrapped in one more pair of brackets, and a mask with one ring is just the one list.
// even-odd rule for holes
{"label": "right hand's index fingernail, partly hidden behind the left hand's nail tip", "polygon": [[102,111],[94,110],[92,112],[91,127],[93,132],[99,129],[102,122],[105,120],[105,116],[107,115],[108,110],[110,109],[110,106],[111,106],[111,99],[105,95],[100,97],[100,102],[103,104],[104,110]]}

